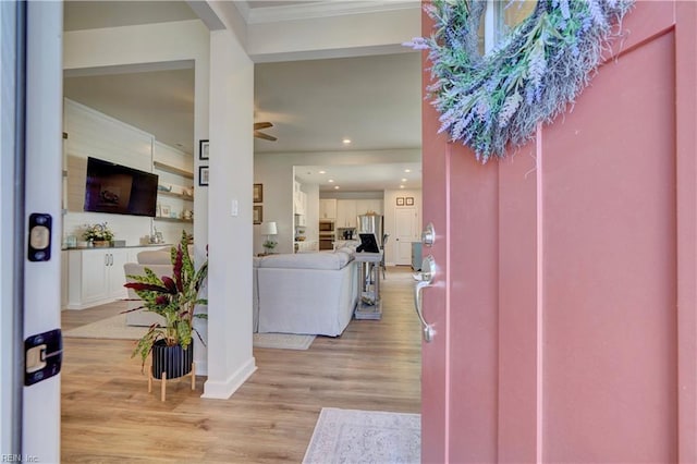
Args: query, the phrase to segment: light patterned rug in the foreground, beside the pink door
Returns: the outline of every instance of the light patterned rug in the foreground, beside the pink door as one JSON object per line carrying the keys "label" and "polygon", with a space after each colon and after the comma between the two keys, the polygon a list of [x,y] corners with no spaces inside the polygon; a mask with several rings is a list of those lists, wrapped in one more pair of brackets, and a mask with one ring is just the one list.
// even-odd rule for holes
{"label": "light patterned rug in the foreground, beside the pink door", "polygon": [[322,407],[303,463],[419,463],[420,454],[420,414]]}

